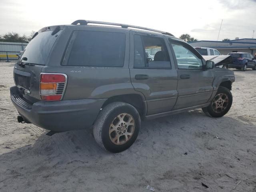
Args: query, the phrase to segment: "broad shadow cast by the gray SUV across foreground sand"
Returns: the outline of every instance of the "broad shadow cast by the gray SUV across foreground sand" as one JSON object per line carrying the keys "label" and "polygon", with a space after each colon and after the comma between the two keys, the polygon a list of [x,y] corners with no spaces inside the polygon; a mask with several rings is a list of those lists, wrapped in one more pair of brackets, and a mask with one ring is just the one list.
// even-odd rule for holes
{"label": "broad shadow cast by the gray SUV across foreground sand", "polygon": [[150,184],[200,191],[202,181],[216,189],[216,182],[233,186],[239,174],[253,178],[255,168],[246,172],[245,165],[256,155],[255,128],[246,119],[192,110],[142,122],[136,142],[118,154],[100,148],[92,129],[42,134],[33,145],[0,156],[0,190],[144,191]]}

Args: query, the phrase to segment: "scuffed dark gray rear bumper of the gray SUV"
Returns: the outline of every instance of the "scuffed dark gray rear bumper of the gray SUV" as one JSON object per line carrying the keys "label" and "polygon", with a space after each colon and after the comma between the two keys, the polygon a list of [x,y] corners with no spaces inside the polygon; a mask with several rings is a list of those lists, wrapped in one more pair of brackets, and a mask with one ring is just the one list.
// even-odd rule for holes
{"label": "scuffed dark gray rear bumper of the gray SUV", "polygon": [[10,88],[11,100],[19,114],[47,130],[68,131],[89,128],[94,123],[106,99],[63,100],[56,102],[38,101],[26,103],[17,97],[18,88]]}

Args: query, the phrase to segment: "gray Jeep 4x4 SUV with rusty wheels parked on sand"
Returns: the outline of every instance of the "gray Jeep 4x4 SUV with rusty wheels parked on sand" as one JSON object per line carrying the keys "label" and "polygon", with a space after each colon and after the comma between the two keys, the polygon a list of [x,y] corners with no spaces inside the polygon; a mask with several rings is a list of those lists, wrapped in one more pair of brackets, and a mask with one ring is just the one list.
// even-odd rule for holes
{"label": "gray Jeep 4x4 SUV with rusty wheels parked on sand", "polygon": [[18,122],[48,135],[93,126],[102,148],[121,152],[141,119],[196,108],[224,116],[234,79],[168,32],[77,20],[36,32],[14,67],[10,94]]}

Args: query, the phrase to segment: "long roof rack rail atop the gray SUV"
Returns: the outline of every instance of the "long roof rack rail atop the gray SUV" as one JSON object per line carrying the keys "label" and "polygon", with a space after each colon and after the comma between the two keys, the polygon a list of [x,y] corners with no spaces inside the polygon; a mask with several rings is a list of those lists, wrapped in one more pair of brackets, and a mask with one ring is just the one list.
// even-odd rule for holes
{"label": "long roof rack rail atop the gray SUV", "polygon": [[72,22],[72,25],[78,25],[79,24],[81,26],[86,26],[89,23],[104,24],[104,25],[115,25],[115,26],[121,26],[122,28],[130,27],[130,28],[142,29],[142,30],[153,31],[153,32],[158,32],[158,33],[162,33],[162,34],[165,34],[165,35],[174,36],[173,34],[168,33],[168,32],[159,31],[159,30],[155,30],[155,29],[150,29],[150,28],[146,28],[146,27],[139,27],[139,26],[134,26],[134,25],[120,24],[120,23],[102,22],[102,21],[76,20],[76,21]]}

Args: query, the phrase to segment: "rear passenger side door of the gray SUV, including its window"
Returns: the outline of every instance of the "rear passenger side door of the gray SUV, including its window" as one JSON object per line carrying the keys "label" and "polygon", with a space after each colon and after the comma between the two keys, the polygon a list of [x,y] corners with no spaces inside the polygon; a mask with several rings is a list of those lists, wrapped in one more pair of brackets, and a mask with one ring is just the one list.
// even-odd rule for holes
{"label": "rear passenger side door of the gray SUV, including its window", "polygon": [[131,81],[146,98],[147,115],[170,111],[176,103],[177,71],[168,52],[163,35],[130,31]]}

